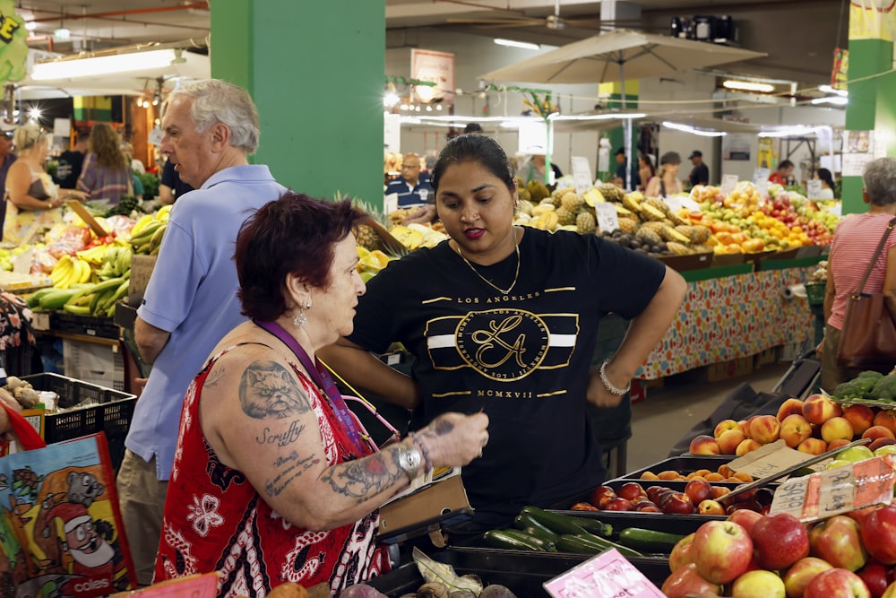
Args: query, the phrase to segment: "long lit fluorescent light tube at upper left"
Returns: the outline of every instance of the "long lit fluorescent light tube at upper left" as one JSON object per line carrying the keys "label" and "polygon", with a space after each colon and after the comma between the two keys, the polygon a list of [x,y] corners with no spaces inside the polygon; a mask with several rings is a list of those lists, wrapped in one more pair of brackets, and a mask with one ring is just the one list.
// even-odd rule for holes
{"label": "long lit fluorescent light tube at upper left", "polygon": [[73,79],[77,77],[96,77],[103,74],[126,73],[160,68],[183,61],[181,50],[168,48],[111,56],[93,56],[90,58],[73,58],[53,62],[37,63],[31,69],[31,79],[44,81],[51,79]]}

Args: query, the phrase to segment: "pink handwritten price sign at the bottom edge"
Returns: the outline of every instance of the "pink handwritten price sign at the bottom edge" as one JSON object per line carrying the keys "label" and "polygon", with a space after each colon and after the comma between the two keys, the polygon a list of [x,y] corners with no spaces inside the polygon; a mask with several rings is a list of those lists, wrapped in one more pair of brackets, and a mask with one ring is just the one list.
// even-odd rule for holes
{"label": "pink handwritten price sign at the bottom edge", "polygon": [[554,598],[662,598],[656,585],[616,549],[606,550],[544,584]]}

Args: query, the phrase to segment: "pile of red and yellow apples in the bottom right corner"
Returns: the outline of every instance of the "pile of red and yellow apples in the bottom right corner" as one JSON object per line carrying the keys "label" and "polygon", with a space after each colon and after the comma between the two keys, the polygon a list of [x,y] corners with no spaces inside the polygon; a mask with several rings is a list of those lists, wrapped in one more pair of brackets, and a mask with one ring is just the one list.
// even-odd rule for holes
{"label": "pile of red and yellow apples in the bottom right corner", "polygon": [[668,598],[896,598],[896,507],[802,524],[738,510],[702,524],[669,555]]}

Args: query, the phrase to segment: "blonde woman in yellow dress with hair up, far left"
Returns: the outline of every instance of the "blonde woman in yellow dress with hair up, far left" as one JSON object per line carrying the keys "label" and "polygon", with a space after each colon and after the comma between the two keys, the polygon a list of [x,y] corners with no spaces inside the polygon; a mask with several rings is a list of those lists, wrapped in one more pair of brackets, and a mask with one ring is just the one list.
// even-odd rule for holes
{"label": "blonde woman in yellow dress with hair up, far left", "polygon": [[47,230],[62,221],[66,199],[83,201],[86,194],[66,189],[57,192],[53,179],[44,169],[49,151],[49,134],[39,126],[28,123],[13,134],[18,159],[6,175],[6,216],[3,227],[4,243],[20,245],[27,236]]}

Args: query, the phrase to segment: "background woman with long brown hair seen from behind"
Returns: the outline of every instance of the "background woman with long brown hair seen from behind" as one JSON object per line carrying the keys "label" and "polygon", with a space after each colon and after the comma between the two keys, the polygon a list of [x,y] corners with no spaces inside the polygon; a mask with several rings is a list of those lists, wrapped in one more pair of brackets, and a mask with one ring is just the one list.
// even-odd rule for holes
{"label": "background woman with long brown hair seen from behind", "polygon": [[117,205],[122,195],[134,195],[131,160],[121,151],[116,130],[108,123],[97,123],[90,129],[88,145],[78,189],[109,205]]}

